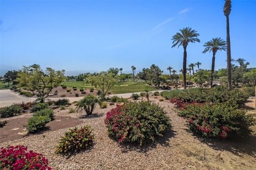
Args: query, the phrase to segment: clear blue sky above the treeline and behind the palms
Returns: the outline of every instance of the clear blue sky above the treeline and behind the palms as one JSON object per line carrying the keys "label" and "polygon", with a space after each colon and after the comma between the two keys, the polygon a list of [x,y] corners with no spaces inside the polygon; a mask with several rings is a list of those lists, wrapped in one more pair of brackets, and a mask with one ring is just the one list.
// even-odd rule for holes
{"label": "clear blue sky above the treeline and behind the palms", "polygon": [[[188,64],[210,69],[203,44],[226,39],[224,1],[1,1],[2,69],[40,64],[66,71],[101,71],[151,64],[167,72],[182,67],[182,48],[171,48],[183,27],[200,34],[189,44]],[[230,14],[231,56],[256,67],[256,1],[233,1]],[[218,52],[216,69],[226,67]]]}

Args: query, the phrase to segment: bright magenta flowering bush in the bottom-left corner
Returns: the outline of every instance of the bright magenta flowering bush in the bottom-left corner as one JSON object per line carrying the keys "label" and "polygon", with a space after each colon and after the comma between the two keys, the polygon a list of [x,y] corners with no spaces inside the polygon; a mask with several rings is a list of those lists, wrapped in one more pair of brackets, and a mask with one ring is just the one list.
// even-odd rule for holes
{"label": "bright magenta flowering bush in the bottom-left corner", "polygon": [[30,150],[25,146],[9,146],[0,148],[0,169],[42,169],[50,170],[48,160],[42,154]]}

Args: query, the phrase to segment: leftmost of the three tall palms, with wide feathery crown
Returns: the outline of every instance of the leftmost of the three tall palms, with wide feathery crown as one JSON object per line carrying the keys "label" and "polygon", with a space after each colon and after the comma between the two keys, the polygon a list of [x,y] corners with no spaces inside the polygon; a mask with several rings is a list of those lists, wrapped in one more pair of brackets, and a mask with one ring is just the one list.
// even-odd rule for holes
{"label": "leftmost of the three tall palms, with wide feathery crown", "polygon": [[183,85],[184,89],[187,88],[187,80],[186,80],[186,70],[187,70],[187,46],[188,43],[196,43],[200,42],[200,40],[197,38],[199,36],[199,33],[197,31],[186,27],[180,30],[180,32],[177,32],[172,37],[172,48],[178,45],[178,48],[182,45],[183,46]]}

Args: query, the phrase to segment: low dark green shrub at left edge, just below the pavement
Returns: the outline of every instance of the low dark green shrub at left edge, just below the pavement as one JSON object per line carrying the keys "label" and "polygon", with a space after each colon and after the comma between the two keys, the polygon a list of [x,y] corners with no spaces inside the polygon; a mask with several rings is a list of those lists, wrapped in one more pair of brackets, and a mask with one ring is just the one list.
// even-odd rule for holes
{"label": "low dark green shrub at left edge, just below the pavement", "polygon": [[22,107],[19,105],[11,105],[0,108],[0,117],[11,117],[22,112]]}

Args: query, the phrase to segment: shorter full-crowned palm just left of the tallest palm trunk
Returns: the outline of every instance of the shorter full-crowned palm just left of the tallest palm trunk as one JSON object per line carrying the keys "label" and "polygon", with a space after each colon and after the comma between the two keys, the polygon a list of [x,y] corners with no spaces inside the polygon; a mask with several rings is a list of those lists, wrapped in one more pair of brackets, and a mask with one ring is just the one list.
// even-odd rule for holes
{"label": "shorter full-crowned palm just left of the tallest palm trunk", "polygon": [[224,50],[226,51],[226,41],[219,38],[213,38],[212,40],[208,41],[207,43],[204,44],[204,50],[202,53],[206,52],[212,52],[212,70],[211,70],[211,83],[210,83],[210,88],[212,88],[212,81],[213,81],[213,73],[214,73],[214,66],[215,66],[215,54],[218,52],[218,50]]}

